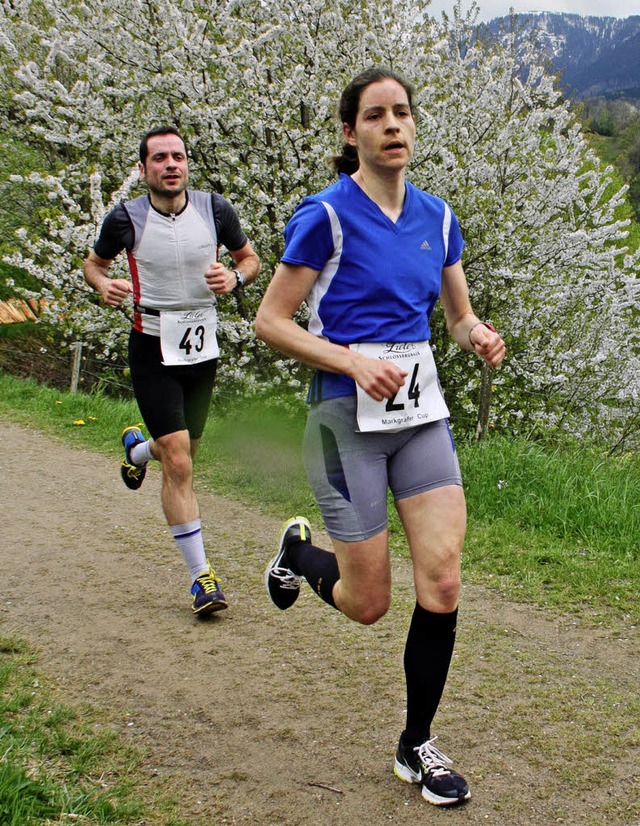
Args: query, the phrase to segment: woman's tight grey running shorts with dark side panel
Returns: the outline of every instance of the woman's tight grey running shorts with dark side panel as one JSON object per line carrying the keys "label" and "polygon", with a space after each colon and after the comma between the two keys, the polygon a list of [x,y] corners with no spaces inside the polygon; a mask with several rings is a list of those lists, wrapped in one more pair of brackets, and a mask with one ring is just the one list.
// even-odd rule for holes
{"label": "woman's tight grey running shorts with dark side panel", "polygon": [[387,527],[387,489],[397,501],[462,485],[446,419],[399,433],[360,433],[355,396],[312,405],[303,458],[327,532],[343,542]]}

